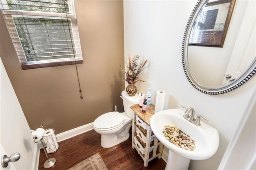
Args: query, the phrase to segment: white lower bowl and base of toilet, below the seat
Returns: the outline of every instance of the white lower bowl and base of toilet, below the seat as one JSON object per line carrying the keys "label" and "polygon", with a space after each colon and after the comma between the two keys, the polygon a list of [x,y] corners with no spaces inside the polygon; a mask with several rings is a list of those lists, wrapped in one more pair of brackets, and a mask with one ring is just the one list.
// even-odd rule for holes
{"label": "white lower bowl and base of toilet, below the seat", "polygon": [[124,141],[126,141],[129,136],[129,130],[132,126],[132,122],[128,123],[126,126],[121,128],[121,130],[118,133],[114,134],[101,134],[101,140],[100,144],[103,148],[111,148],[113,146],[116,146],[117,144],[120,144]]}

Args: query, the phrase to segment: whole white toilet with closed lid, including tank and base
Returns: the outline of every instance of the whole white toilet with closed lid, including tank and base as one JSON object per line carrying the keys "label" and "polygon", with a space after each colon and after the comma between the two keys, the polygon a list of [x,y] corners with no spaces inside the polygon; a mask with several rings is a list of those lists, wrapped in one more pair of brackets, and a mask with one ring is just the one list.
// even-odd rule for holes
{"label": "whole white toilet with closed lid, including tank and base", "polygon": [[126,91],[122,91],[124,112],[104,113],[93,122],[93,128],[101,134],[101,146],[110,148],[127,140],[130,136],[129,130],[132,126],[134,111],[130,106],[139,103],[139,95],[129,96]]}

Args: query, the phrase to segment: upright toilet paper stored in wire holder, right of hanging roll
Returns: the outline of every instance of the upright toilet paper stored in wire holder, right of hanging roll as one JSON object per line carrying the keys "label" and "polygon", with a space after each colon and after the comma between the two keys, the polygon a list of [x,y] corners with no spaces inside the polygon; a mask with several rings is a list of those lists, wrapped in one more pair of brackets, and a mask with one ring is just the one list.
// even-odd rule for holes
{"label": "upright toilet paper stored in wire holder, right of hanging roll", "polygon": [[56,150],[59,148],[59,145],[53,128],[46,129],[43,139],[47,146],[46,152],[48,154],[56,152]]}

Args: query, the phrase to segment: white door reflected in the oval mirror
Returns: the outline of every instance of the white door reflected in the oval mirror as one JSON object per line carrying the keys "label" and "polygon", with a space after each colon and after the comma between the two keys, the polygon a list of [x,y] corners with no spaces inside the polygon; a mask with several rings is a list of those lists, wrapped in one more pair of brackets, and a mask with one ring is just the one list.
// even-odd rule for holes
{"label": "white door reflected in the oval mirror", "polygon": [[[256,58],[256,1],[248,1],[244,19],[232,51],[230,61],[224,75],[223,84],[237,79]],[[231,75],[226,78],[226,75]]]}

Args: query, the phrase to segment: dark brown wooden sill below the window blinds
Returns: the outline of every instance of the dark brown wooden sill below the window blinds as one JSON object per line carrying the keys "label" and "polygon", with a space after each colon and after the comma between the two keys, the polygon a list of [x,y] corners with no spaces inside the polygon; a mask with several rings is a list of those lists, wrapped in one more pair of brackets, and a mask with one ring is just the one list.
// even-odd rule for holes
{"label": "dark brown wooden sill below the window blinds", "polygon": [[54,63],[36,63],[36,64],[22,64],[21,68],[23,70],[26,69],[37,69],[37,68],[44,68],[44,67],[55,67],[55,66],[61,66],[61,65],[72,65],[72,64],[82,64],[83,60],[78,61],[60,61],[60,62],[54,62]]}

